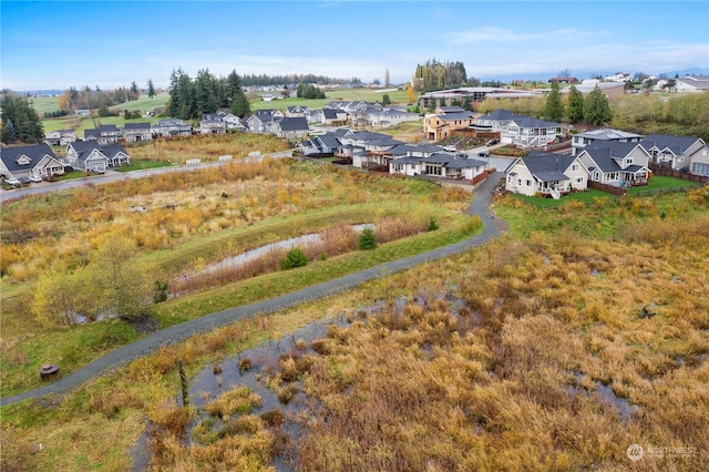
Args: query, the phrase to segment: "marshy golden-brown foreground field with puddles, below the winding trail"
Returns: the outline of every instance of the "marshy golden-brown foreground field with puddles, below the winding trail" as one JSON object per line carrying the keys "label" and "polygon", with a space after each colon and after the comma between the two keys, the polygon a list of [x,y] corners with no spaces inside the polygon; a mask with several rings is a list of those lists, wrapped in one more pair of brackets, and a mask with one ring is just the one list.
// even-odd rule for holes
{"label": "marshy golden-brown foreground field with puddles, below the winding trail", "polygon": [[[545,212],[506,196],[495,213],[507,234],[464,255],[194,337],[65,398],[3,408],[3,470],[130,469],[145,418],[160,427],[155,470],[265,469],[284,437],[270,417],[229,410],[248,392],[225,388],[209,403],[233,411],[219,434],[179,441],[196,411],[176,406],[175,359],[188,377],[212,366],[216,376],[226,357],[340,312],[359,321],[264,373],[275,391],[310,400],[290,444],[304,470],[706,470],[709,187]],[[270,224],[254,225],[259,238]],[[378,300],[379,312],[358,317]],[[4,332],[2,347],[8,359]],[[690,453],[633,463],[634,443]]]}

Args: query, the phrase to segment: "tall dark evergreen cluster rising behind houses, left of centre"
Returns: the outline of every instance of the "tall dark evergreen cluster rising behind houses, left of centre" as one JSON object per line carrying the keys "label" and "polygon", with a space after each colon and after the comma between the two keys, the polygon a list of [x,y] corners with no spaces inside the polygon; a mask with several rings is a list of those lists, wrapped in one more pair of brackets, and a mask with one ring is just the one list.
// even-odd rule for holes
{"label": "tall dark evergreen cluster rising behind houses, left of centre", "polygon": [[250,113],[242,78],[232,71],[226,78],[216,78],[208,69],[197,71],[193,80],[182,68],[169,75],[167,114],[182,120],[199,119],[218,109],[244,117]]}

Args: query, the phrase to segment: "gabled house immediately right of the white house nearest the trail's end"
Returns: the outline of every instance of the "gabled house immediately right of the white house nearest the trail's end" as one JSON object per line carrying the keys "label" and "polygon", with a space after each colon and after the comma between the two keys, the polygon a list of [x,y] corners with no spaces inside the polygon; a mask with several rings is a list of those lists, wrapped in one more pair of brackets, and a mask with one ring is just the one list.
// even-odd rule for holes
{"label": "gabled house immediately right of the white house nearest the trail's end", "polygon": [[578,158],[588,170],[588,179],[615,187],[647,185],[650,154],[638,142],[598,142],[586,146]]}

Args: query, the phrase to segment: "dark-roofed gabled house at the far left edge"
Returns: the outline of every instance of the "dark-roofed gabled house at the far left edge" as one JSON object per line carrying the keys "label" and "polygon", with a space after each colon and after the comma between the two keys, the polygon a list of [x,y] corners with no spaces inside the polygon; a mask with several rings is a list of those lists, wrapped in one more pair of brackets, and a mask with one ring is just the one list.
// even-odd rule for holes
{"label": "dark-roofed gabled house at the far left edge", "polygon": [[42,178],[64,173],[64,165],[48,144],[0,148],[0,174],[4,177]]}

